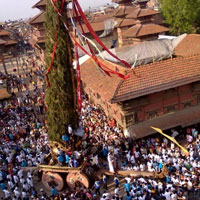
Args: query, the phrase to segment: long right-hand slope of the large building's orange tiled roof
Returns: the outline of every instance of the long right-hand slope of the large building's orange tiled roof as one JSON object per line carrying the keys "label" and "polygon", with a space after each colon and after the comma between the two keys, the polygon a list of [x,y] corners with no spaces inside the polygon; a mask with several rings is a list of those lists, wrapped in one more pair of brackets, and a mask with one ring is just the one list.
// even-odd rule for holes
{"label": "long right-hand slope of the large building's orange tiled roof", "polygon": [[200,55],[168,59],[135,68],[123,81],[113,102],[124,101],[200,80]]}

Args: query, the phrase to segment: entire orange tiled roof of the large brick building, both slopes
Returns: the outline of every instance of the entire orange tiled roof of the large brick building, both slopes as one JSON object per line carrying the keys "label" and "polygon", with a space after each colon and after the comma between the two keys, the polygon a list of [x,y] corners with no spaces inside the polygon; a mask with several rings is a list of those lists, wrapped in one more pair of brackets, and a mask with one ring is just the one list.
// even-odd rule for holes
{"label": "entire orange tiled roof of the large brick building, both slopes", "polygon": [[[104,61],[107,67],[115,69],[115,63]],[[107,101],[121,102],[147,94],[175,88],[200,81],[200,55],[179,57],[127,70],[130,77],[122,80],[117,76],[104,76],[89,59],[81,65],[81,79],[88,88]],[[125,73],[125,72],[124,72]]]}

